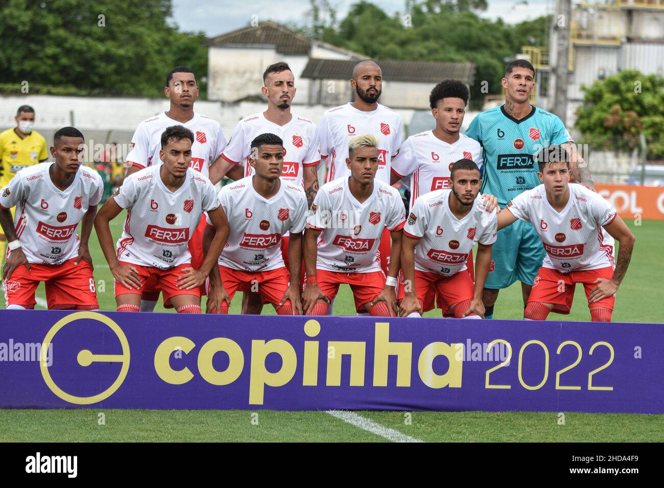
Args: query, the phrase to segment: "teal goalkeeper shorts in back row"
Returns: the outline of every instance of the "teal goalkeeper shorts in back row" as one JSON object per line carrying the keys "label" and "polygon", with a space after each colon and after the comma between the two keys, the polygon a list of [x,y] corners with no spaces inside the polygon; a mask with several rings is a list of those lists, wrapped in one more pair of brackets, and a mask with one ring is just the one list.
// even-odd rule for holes
{"label": "teal goalkeeper shorts in back row", "polygon": [[532,285],[544,256],[546,251],[533,224],[517,220],[498,231],[491,253],[493,271],[484,287],[502,289],[516,281]]}

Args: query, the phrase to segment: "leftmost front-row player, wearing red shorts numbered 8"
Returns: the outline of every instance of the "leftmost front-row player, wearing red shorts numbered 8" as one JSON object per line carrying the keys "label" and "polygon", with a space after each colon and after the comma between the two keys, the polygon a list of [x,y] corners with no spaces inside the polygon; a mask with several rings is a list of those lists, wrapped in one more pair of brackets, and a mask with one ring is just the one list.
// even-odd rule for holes
{"label": "leftmost front-row player, wearing red shorts numbered 8", "polygon": [[[35,308],[40,282],[49,309],[99,307],[88,240],[104,183],[81,164],[84,142],[78,129],[63,127],[50,148],[55,162],[22,169],[0,190],[0,224],[9,240],[3,267],[8,309]],[[9,208],[15,205],[19,208],[12,222]]]}

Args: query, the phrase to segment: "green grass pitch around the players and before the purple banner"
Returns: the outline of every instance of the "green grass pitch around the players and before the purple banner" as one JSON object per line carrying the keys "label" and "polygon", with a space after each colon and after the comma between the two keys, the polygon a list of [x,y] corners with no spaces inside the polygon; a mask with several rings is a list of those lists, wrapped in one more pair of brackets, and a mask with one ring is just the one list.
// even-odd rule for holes
{"label": "green grass pitch around the players and before the purple banner", "polygon": [[[112,222],[120,235],[123,215]],[[629,271],[616,297],[616,322],[661,323],[664,262],[657,258],[663,244],[664,222],[627,222],[636,236]],[[90,239],[100,307],[115,309],[113,277],[96,236]],[[45,298],[43,285],[38,296]],[[234,297],[230,313],[240,313],[242,295]],[[2,304],[4,305],[4,304]],[[205,305],[204,305],[205,306]],[[38,307],[42,308],[42,307]],[[167,311],[161,303],[156,311]],[[172,312],[172,310],[170,311]],[[274,315],[272,307],[263,313]],[[355,315],[349,287],[335,300],[337,315]],[[521,287],[501,291],[495,319],[521,319]],[[440,317],[430,311],[427,317]],[[582,287],[577,287],[570,315],[551,319],[588,321]],[[104,413],[101,424],[100,413]],[[661,442],[664,415],[530,412],[357,412],[361,416],[425,442]],[[384,442],[385,439],[325,412],[258,412],[238,410],[0,410],[0,442]]]}

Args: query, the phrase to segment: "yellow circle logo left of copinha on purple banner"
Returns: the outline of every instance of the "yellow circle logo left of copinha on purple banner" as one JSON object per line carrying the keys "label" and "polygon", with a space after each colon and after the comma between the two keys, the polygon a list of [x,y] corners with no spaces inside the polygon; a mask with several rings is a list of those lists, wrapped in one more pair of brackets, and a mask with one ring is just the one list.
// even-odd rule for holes
{"label": "yellow circle logo left of copinha on purple banner", "polygon": [[53,327],[50,328],[50,331],[48,331],[48,333],[46,333],[46,337],[44,337],[42,351],[48,351],[48,347],[50,347],[50,343],[53,340],[53,337],[56,335],[56,333],[58,333],[58,331],[60,331],[60,329],[62,329],[62,327],[82,319],[96,320],[103,323],[104,325],[107,325],[115,333],[115,335],[118,336],[118,339],[120,339],[120,344],[122,345],[122,354],[93,354],[87,349],[83,349],[76,357],[78,364],[81,366],[90,366],[92,363],[100,362],[122,363],[120,374],[118,374],[118,378],[116,378],[113,384],[100,394],[93,396],[74,396],[64,392],[58,385],[55,384],[53,378],[50,377],[50,372],[48,372],[48,366],[46,365],[45,361],[40,361],[39,366],[41,368],[42,376],[44,377],[46,386],[48,386],[48,388],[50,388],[54,394],[69,403],[76,405],[90,405],[93,403],[101,402],[102,400],[106,400],[106,398],[114,394],[116,390],[120,388],[122,382],[124,382],[127,376],[127,371],[129,371],[129,343],[127,342],[127,337],[124,335],[124,332],[122,329],[120,329],[120,325],[115,323],[115,321],[112,319],[106,317],[106,315],[102,315],[101,313],[97,312],[76,312],[60,319],[58,322],[56,322],[55,325],[53,325]]}

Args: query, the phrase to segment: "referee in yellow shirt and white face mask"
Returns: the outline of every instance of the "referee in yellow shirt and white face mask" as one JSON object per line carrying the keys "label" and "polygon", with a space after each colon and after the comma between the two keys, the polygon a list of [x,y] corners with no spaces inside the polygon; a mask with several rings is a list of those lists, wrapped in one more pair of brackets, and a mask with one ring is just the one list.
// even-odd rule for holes
{"label": "referee in yellow shirt and white face mask", "polygon": [[[0,189],[9,184],[16,173],[48,159],[46,139],[33,131],[35,109],[22,105],[16,112],[16,127],[0,132]],[[12,215],[15,208],[11,209]],[[0,228],[0,263],[5,259],[7,239]]]}

